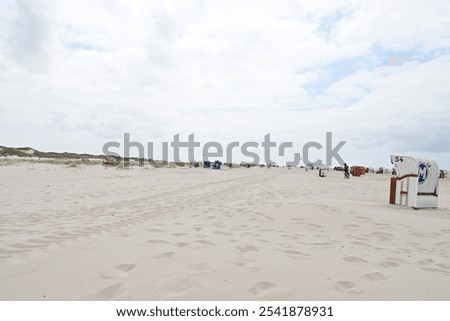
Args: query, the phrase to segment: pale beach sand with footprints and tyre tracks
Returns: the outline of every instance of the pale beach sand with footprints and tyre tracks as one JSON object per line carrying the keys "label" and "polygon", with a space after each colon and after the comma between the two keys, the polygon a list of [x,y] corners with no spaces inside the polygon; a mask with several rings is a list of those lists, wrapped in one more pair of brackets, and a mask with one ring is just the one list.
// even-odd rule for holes
{"label": "pale beach sand with footprints and tyre tracks", "polygon": [[450,300],[440,208],[389,175],[0,166],[1,300]]}

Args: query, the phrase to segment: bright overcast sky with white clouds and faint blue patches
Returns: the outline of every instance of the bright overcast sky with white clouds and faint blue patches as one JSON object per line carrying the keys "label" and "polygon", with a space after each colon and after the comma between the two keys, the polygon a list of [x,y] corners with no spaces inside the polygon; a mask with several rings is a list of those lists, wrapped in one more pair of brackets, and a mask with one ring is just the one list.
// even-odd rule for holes
{"label": "bright overcast sky with white clouds and faint blue patches", "polygon": [[271,133],[301,152],[333,132],[350,164],[450,169],[449,17],[446,0],[0,0],[0,145]]}

